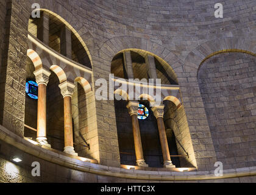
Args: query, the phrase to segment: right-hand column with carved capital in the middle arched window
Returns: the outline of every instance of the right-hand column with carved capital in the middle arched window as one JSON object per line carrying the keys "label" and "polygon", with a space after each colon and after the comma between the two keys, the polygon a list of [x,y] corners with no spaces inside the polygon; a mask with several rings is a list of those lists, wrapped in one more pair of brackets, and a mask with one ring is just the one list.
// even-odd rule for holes
{"label": "right-hand column with carved capital in the middle arched window", "polygon": [[165,168],[175,168],[175,165],[172,165],[170,153],[169,153],[169,146],[165,132],[165,123],[163,122],[163,108],[164,105],[160,105],[158,107],[152,107],[152,112],[154,112],[155,118],[157,118],[157,126],[159,132],[159,138],[162,148],[163,154],[163,167]]}

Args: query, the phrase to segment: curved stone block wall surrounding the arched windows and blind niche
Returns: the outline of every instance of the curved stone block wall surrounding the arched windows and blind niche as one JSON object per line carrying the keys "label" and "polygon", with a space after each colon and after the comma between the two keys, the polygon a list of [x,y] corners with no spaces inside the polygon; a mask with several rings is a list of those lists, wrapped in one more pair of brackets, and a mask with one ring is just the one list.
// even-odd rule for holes
{"label": "curved stone block wall surrounding the arched windows and blind niche", "polygon": [[[191,134],[199,171],[214,169],[219,151],[214,147],[215,138],[212,139],[213,134],[205,114],[196,78],[197,68],[205,56],[221,49],[243,47],[255,53],[256,2],[223,1],[224,18],[216,19],[214,4],[218,0],[12,1],[12,6],[5,6],[2,12],[12,9],[12,12],[8,12],[12,15],[10,34],[7,30],[5,45],[1,46],[8,48],[8,51],[5,51],[7,56],[1,59],[3,93],[0,110],[1,124],[20,137],[24,131],[27,24],[32,11],[31,4],[35,2],[40,3],[41,8],[62,16],[87,44],[92,60],[93,80],[107,79],[113,57],[124,49],[143,49],[165,60],[179,80],[184,112],[188,119],[188,133]],[[1,16],[1,24],[2,21]],[[207,44],[207,41],[216,44]],[[102,165],[118,167],[118,137],[113,124],[114,102],[96,101],[94,107],[96,133],[93,136],[97,147],[93,151],[94,157],[99,158]]]}

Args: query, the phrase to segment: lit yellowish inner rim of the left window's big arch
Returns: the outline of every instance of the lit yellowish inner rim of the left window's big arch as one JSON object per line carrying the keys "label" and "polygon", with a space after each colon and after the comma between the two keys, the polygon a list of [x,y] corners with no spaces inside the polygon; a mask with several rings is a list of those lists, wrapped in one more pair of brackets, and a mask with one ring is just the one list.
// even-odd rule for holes
{"label": "lit yellowish inner rim of the left window's big arch", "polygon": [[[63,24],[66,25],[66,27],[68,27],[71,32],[73,32],[73,34],[76,36],[77,40],[80,41],[80,44],[82,44],[82,47],[85,49],[85,51],[87,52],[87,55],[88,55],[88,58],[90,60],[90,63],[91,63],[91,67],[93,66],[93,60],[91,58],[91,54],[90,54],[90,51],[87,47],[87,44],[85,44],[83,38],[79,35],[79,33],[74,29],[73,26],[71,26],[71,24],[68,23],[68,21],[66,21],[64,18],[62,18],[62,16],[58,15],[57,13],[55,12],[52,12],[51,10],[48,10],[48,9],[36,9],[34,11],[37,11],[37,10],[40,10],[41,12],[46,12],[46,13],[49,13],[51,15],[53,15],[55,18],[59,19]],[[84,27],[84,26],[83,26]],[[85,27],[84,27],[85,28]],[[90,37],[90,38],[93,38],[90,34],[87,34],[87,37]]]}

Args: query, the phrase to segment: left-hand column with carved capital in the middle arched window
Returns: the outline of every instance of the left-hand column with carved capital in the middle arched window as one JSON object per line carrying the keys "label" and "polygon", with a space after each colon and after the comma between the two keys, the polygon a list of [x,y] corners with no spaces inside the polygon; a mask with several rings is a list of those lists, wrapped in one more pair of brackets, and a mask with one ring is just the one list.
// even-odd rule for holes
{"label": "left-hand column with carved capital in the middle arched window", "polygon": [[129,101],[126,107],[129,110],[130,116],[132,116],[132,130],[133,130],[133,140],[134,140],[135,154],[136,154],[136,165],[148,167],[143,157],[143,149],[142,149],[141,137],[140,137],[140,127],[138,124],[138,104],[139,104],[138,102]]}

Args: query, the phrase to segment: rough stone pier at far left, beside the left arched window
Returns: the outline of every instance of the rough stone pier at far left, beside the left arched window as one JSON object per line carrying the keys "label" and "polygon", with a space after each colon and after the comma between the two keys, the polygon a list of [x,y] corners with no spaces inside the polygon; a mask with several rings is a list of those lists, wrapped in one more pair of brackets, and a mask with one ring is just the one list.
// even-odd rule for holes
{"label": "rough stone pier at far left, beside the left arched window", "polygon": [[[23,137],[26,83],[27,15],[18,4],[9,2],[5,18],[5,50],[2,59],[1,123]],[[10,30],[9,30],[10,29]]]}

